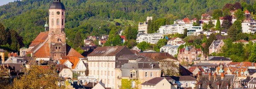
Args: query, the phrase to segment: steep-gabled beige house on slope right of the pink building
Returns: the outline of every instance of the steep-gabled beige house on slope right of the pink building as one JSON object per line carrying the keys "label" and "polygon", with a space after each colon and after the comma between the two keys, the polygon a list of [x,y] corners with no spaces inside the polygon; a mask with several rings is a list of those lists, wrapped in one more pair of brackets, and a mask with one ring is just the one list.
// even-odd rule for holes
{"label": "steep-gabled beige house on slope right of the pink building", "polygon": [[221,47],[224,46],[223,40],[214,40],[209,47],[209,54],[220,53]]}

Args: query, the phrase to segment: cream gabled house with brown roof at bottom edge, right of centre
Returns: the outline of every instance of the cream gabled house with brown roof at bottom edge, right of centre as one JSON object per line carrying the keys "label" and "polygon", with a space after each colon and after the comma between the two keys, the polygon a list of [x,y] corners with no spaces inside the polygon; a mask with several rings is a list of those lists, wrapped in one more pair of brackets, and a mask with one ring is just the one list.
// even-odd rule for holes
{"label": "cream gabled house with brown roof at bottom edge, right of centre", "polygon": [[163,77],[153,78],[141,84],[142,89],[175,89],[172,84]]}

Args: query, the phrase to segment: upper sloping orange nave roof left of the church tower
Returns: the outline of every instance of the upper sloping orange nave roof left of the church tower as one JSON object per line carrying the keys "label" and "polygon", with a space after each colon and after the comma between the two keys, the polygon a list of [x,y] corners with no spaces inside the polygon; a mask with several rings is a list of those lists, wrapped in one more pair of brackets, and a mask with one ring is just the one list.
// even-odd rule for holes
{"label": "upper sloping orange nave roof left of the church tower", "polygon": [[31,42],[29,47],[36,46],[42,42],[45,41],[45,39],[48,37],[49,31],[41,32],[38,34],[38,36]]}

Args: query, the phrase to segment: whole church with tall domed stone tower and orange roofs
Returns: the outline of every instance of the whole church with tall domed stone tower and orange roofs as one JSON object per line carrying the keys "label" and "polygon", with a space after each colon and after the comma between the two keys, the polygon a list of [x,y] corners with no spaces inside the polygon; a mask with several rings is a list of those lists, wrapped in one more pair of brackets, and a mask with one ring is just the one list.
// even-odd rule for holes
{"label": "whole church with tall domed stone tower and orange roofs", "polygon": [[36,61],[57,61],[61,56],[76,56],[85,58],[75,49],[67,45],[65,34],[65,7],[61,0],[53,0],[49,7],[49,25],[44,25],[45,31],[31,42],[27,55],[36,58]]}

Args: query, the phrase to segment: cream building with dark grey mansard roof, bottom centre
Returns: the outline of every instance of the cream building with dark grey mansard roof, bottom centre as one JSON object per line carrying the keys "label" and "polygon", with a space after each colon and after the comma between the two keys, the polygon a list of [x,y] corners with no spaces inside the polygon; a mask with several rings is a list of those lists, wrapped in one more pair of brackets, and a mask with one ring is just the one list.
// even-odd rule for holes
{"label": "cream building with dark grey mansard roof, bottom centre", "polygon": [[[152,78],[160,77],[161,69],[158,61],[140,55],[122,55],[116,64],[116,87],[122,88],[122,79],[143,83]],[[140,83],[132,83],[133,88],[141,89]]]}

